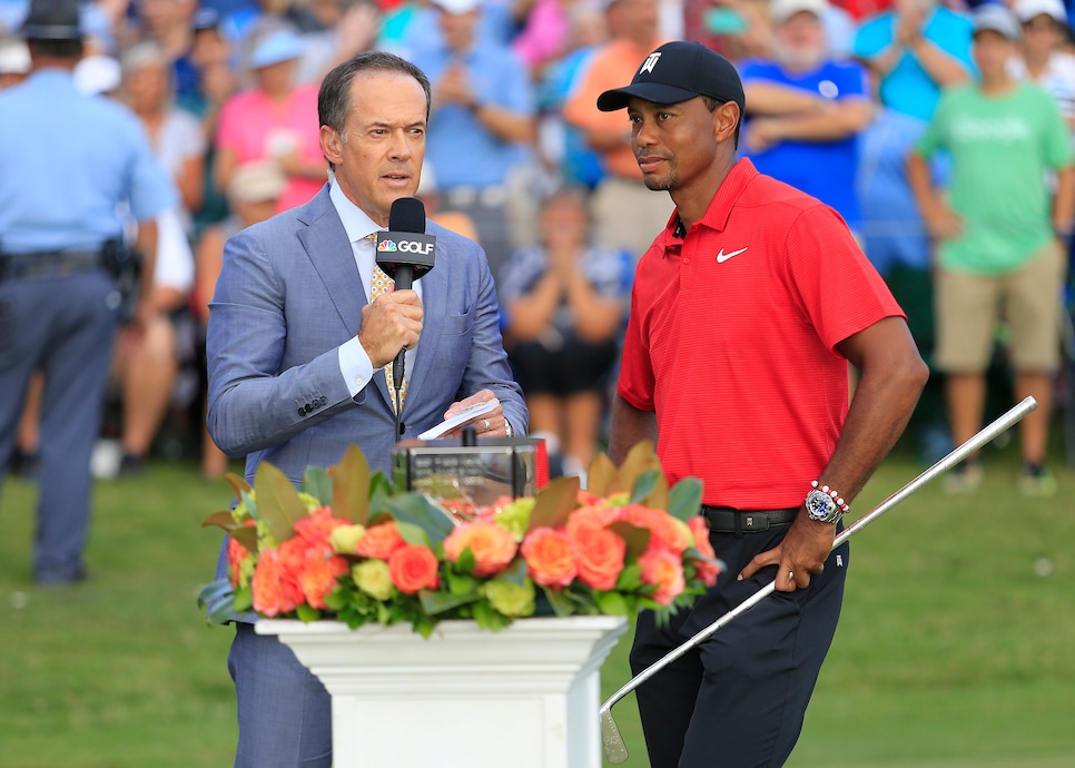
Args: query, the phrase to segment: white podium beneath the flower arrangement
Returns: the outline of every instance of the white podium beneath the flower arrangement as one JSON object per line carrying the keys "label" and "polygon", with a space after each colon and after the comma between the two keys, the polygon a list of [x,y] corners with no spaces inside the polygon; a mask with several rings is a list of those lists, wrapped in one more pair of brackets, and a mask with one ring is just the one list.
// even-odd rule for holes
{"label": "white podium beneath the flower arrangement", "polygon": [[601,768],[601,664],[622,617],[352,630],[259,619],[332,695],[334,768]]}

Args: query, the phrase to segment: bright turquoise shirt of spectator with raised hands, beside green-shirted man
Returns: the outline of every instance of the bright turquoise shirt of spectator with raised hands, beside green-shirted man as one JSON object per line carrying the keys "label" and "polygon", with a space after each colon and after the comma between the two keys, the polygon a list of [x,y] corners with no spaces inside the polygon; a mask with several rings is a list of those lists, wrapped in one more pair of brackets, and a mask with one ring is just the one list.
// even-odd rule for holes
{"label": "bright turquoise shirt of spectator with raised hands, beside green-shirted man", "polygon": [[[880,56],[896,39],[898,17],[886,11],[859,27],[851,55],[861,59]],[[960,61],[969,72],[977,71],[970,58],[974,22],[947,8],[934,9],[923,28],[923,37]],[[940,88],[911,53],[904,51],[892,70],[881,78],[880,100],[897,112],[928,120],[937,108]]]}

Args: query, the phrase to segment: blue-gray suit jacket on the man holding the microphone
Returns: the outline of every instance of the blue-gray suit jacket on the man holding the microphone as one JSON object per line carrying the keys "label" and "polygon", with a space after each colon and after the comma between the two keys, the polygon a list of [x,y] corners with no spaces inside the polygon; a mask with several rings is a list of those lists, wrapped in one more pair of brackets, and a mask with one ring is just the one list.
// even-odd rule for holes
{"label": "blue-gray suit jacket on the man holding the microphone", "polygon": [[[440,423],[455,401],[491,390],[516,434],[526,406],[500,334],[500,308],[481,247],[430,221],[436,263],[421,278],[425,317],[408,368],[404,439]],[[231,237],[210,303],[208,426],[231,456],[262,461],[293,483],[329,466],[351,443],[371,470],[391,471],[395,415],[384,376],[352,398],[337,347],[358,334],[365,293],[326,185],[307,205]]]}

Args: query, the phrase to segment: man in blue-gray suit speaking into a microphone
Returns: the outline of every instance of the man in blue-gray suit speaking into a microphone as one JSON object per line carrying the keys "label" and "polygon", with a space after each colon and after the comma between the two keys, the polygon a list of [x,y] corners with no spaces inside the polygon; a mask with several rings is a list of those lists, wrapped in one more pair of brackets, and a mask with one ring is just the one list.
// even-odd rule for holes
{"label": "man in blue-gray suit speaking into a microphone", "polygon": [[[484,436],[524,434],[527,414],[499,329],[482,249],[436,224],[436,265],[414,289],[371,301],[374,243],[392,203],[413,196],[425,150],[430,82],[398,57],[359,53],[325,78],[320,146],[331,180],[307,205],[228,240],[210,303],[209,432],[229,455],[298,484],[357,443],[388,471],[392,390],[382,371],[406,349],[403,434],[496,397]],[[462,429],[462,427],[460,427]],[[327,766],[329,697],[276,638],[236,622],[228,657],[238,698],[236,766]]]}

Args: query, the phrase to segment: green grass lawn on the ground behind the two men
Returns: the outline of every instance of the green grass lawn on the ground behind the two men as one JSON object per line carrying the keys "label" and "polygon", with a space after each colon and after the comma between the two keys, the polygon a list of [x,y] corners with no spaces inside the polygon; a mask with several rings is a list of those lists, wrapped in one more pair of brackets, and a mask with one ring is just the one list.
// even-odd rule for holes
{"label": "green grass lawn on the ground behind the two men", "polygon": [[[1075,474],[1055,462],[1059,493],[1034,501],[1015,488],[1014,445],[985,462],[978,494],[934,483],[856,536],[844,618],[789,766],[1075,765]],[[923,469],[894,455],[856,511]],[[69,589],[30,579],[34,500],[10,480],[0,498],[0,766],[230,765],[230,631],[206,627],[195,603],[220,540],[199,523],[227,505],[227,485],[164,463],[99,483],[91,579]],[[629,643],[602,670],[604,695],[630,678]],[[614,715],[627,765],[645,768],[633,697]]]}

